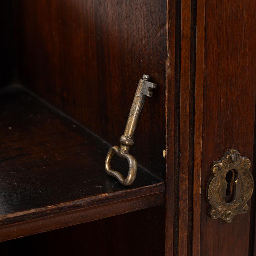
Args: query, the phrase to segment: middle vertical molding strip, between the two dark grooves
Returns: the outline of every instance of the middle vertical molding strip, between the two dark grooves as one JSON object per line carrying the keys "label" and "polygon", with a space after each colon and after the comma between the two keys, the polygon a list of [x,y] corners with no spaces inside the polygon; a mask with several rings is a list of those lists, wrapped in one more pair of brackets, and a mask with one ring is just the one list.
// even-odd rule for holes
{"label": "middle vertical molding strip, between the two dark grooves", "polygon": [[187,255],[191,1],[181,2],[179,256]]}

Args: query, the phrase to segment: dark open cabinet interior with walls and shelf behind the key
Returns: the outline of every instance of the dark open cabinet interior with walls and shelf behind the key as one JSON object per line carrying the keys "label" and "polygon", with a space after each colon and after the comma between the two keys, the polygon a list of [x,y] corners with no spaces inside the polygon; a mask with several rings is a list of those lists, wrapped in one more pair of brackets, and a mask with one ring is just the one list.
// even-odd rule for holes
{"label": "dark open cabinet interior with walls and shelf behind the key", "polygon": [[[4,255],[31,244],[37,255],[164,253],[166,3],[145,10],[148,1],[136,2],[1,4]],[[144,73],[158,88],[131,152],[136,181],[123,187],[104,161]],[[127,163],[114,166],[126,173]]]}

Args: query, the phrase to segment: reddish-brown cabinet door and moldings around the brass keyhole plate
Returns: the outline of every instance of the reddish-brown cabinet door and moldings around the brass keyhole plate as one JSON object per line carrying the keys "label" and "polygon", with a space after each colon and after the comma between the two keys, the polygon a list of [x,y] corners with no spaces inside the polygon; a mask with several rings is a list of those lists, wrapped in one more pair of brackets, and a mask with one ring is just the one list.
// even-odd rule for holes
{"label": "reddish-brown cabinet door and moldings around the brass keyhole plate", "polygon": [[168,113],[174,109],[175,125],[171,118],[167,124],[175,145],[167,173],[173,167],[173,255],[253,255],[255,197],[246,214],[226,223],[207,215],[206,190],[212,162],[231,147],[251,160],[255,174],[256,2],[184,0],[171,11],[175,103]]}

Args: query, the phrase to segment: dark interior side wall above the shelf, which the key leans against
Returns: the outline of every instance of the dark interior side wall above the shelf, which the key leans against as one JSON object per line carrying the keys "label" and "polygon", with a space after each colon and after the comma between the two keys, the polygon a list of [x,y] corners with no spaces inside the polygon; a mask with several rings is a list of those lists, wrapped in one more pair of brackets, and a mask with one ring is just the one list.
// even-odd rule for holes
{"label": "dark interior side wall above the shelf, which the key leans against", "polygon": [[147,99],[132,153],[165,178],[166,2],[17,1],[21,82],[118,145],[146,73]]}

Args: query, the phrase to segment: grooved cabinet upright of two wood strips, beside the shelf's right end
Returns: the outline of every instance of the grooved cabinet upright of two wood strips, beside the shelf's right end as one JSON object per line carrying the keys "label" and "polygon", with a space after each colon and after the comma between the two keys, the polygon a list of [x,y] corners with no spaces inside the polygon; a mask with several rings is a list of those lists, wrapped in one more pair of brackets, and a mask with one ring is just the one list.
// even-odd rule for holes
{"label": "grooved cabinet upright of two wood strips, beside the shelf's right end", "polygon": [[[167,61],[167,224],[173,228],[172,244],[166,233],[167,255],[191,255],[193,247],[193,161],[195,105],[196,1],[169,2],[175,15],[168,22]],[[173,42],[173,38],[175,41]],[[171,41],[172,40],[172,41]],[[175,53],[173,51],[175,50]],[[174,58],[175,56],[175,58]],[[175,59],[175,73],[171,60]],[[172,151],[172,147],[174,150]],[[171,154],[171,155],[170,155]],[[173,161],[174,159],[174,161]],[[170,178],[172,177],[172,178]],[[171,208],[170,207],[170,208]],[[166,250],[167,252],[167,250]],[[173,253],[173,254],[172,254]]]}

